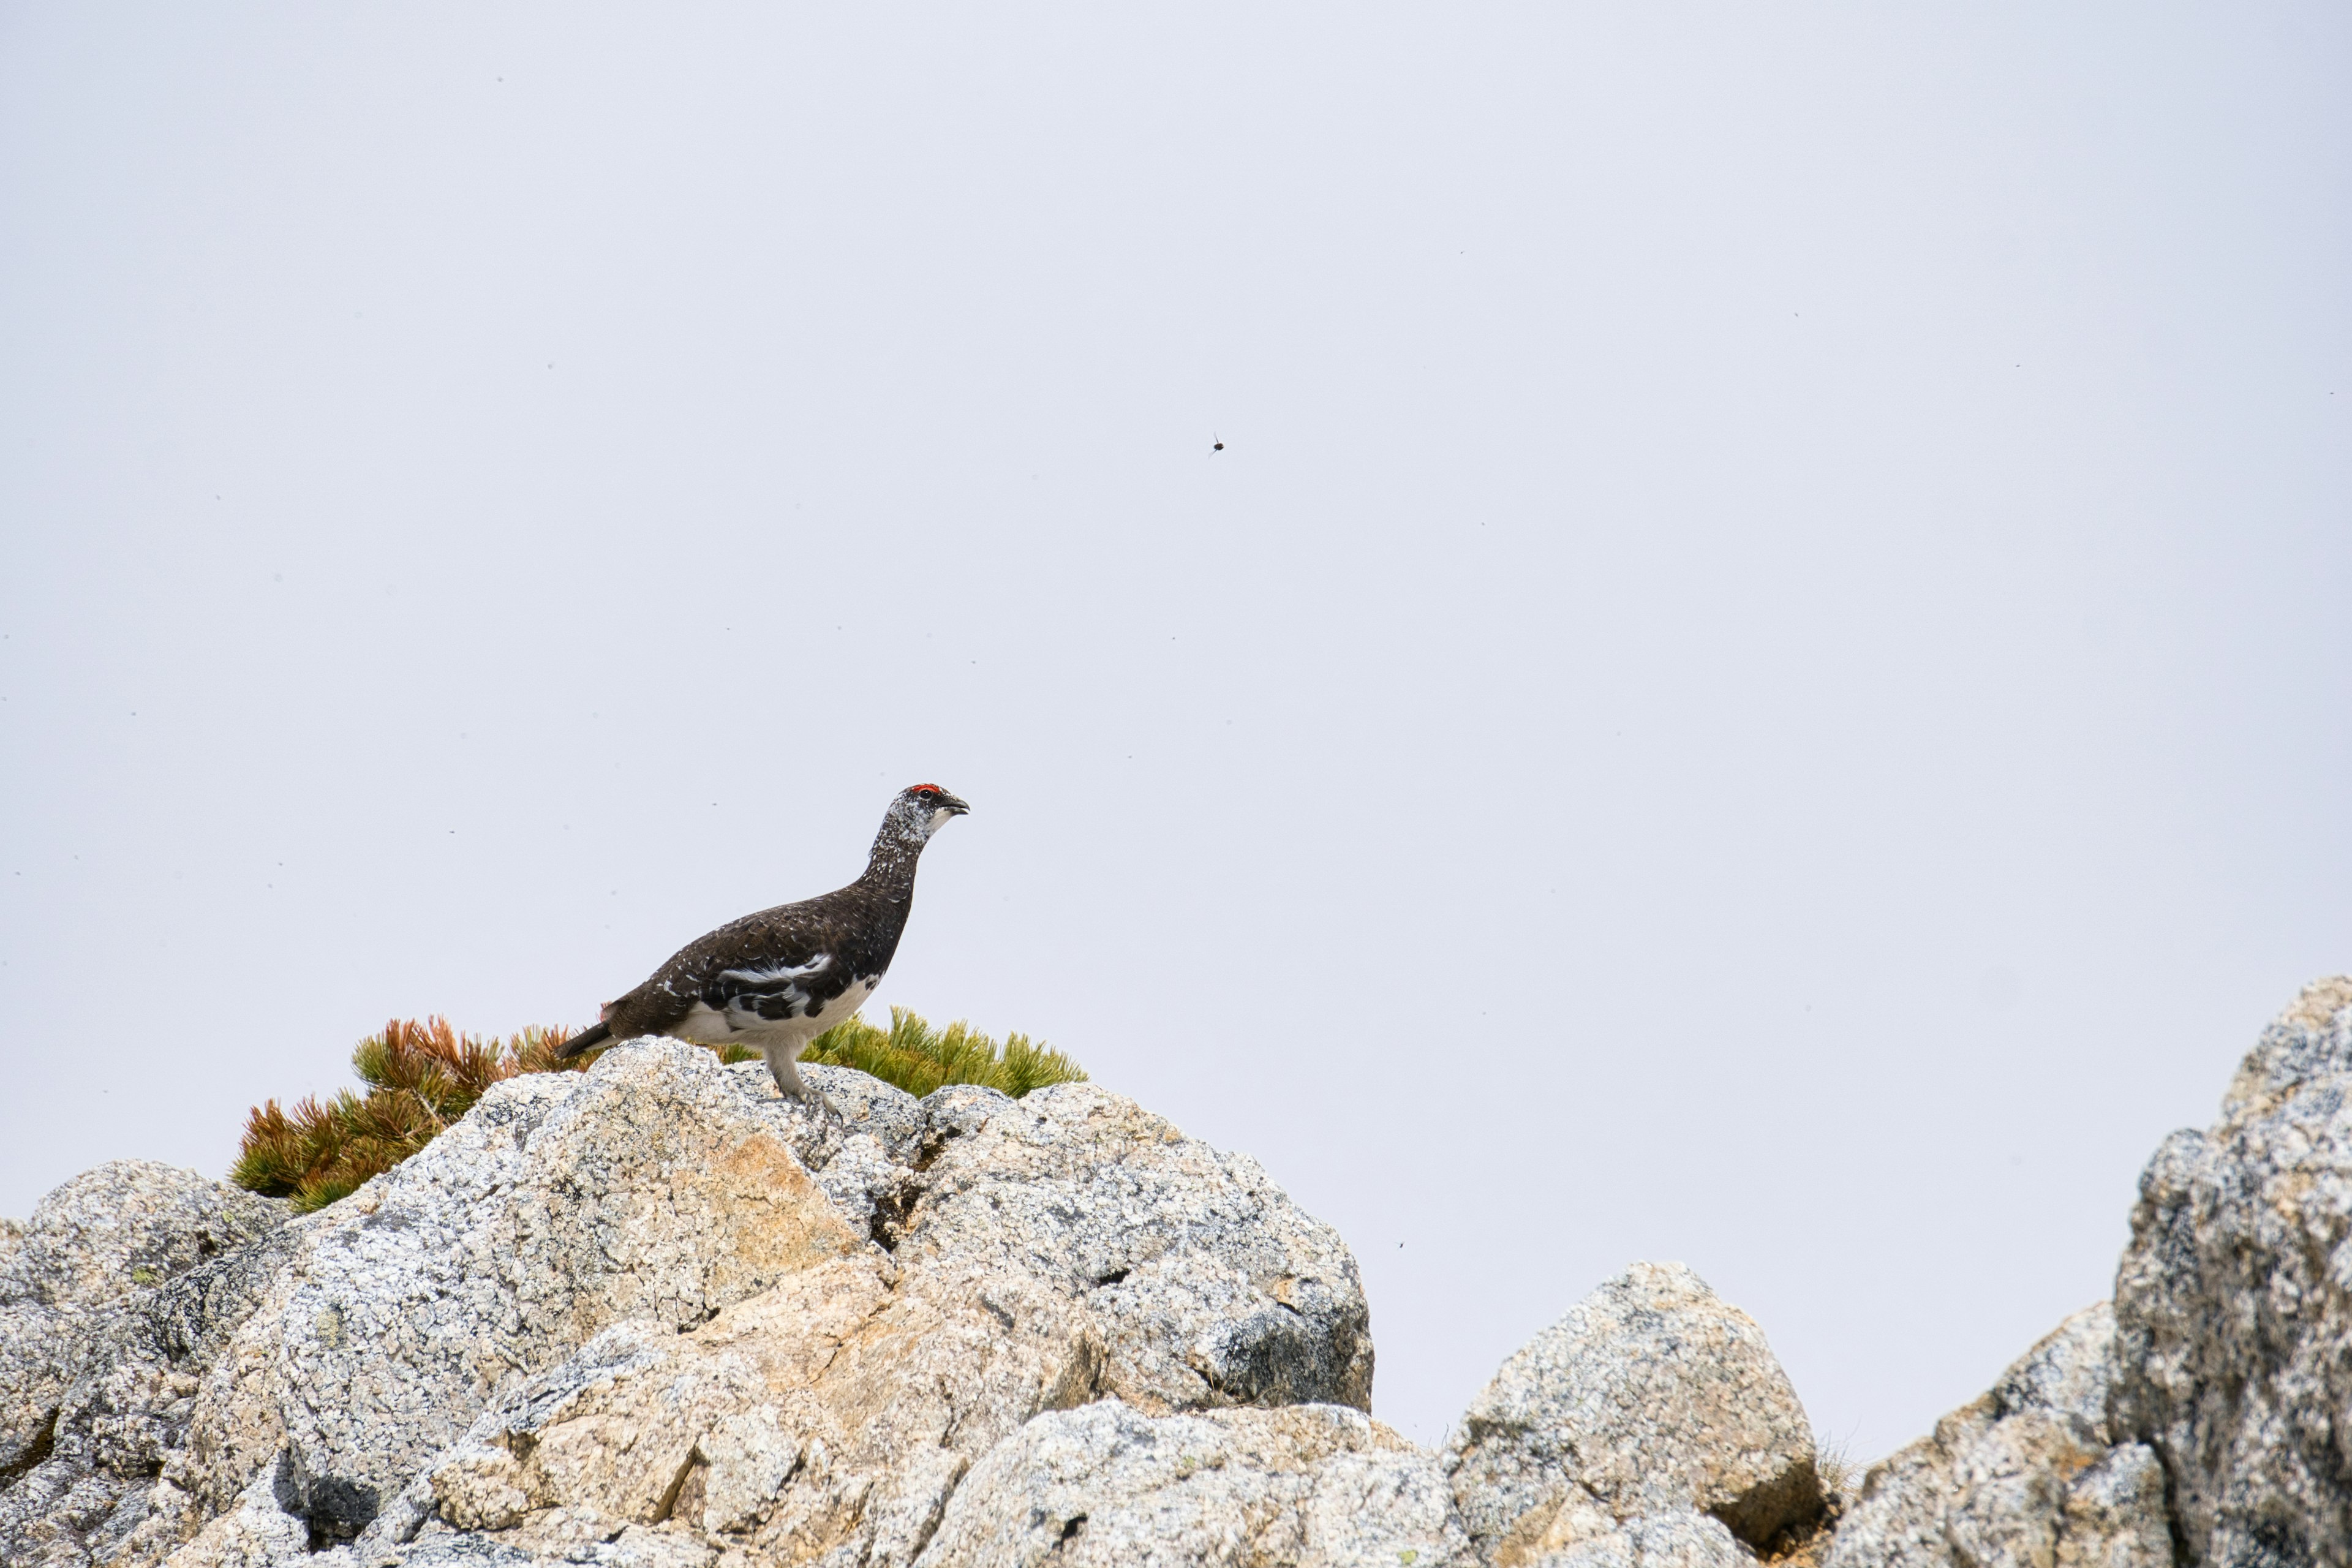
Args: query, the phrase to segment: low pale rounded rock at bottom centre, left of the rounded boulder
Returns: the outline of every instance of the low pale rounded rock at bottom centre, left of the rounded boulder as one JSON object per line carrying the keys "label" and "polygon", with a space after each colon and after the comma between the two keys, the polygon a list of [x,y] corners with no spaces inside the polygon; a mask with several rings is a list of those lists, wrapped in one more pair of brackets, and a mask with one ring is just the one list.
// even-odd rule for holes
{"label": "low pale rounded rock at bottom centre, left of the rounded boulder", "polygon": [[1040,1415],[983,1458],[920,1568],[1470,1568],[1437,1458],[1345,1406]]}

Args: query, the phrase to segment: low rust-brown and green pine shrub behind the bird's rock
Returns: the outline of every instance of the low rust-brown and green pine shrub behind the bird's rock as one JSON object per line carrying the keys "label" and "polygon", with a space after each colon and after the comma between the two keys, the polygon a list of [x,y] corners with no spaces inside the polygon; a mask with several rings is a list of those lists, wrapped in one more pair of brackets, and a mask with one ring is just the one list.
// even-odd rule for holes
{"label": "low rust-brown and green pine shrub behind the bird's rock", "polygon": [[[492,1084],[522,1072],[583,1072],[600,1056],[588,1051],[569,1063],[555,1060],[567,1039],[569,1030],[553,1027],[475,1039],[452,1030],[447,1018],[395,1018],[350,1053],[365,1093],[343,1088],[327,1103],[303,1095],[292,1110],[278,1100],[254,1107],[228,1180],[263,1197],[292,1199],[296,1213],[325,1208],[433,1143]],[[760,1060],[746,1046],[715,1051],[722,1063]],[[1087,1077],[1068,1056],[1047,1051],[1028,1034],[1007,1034],[1000,1046],[967,1023],[938,1030],[903,1006],[889,1011],[887,1030],[863,1018],[826,1030],[800,1060],[856,1067],[913,1095],[941,1084],[985,1084],[1021,1098]]]}

